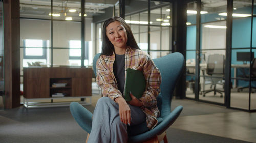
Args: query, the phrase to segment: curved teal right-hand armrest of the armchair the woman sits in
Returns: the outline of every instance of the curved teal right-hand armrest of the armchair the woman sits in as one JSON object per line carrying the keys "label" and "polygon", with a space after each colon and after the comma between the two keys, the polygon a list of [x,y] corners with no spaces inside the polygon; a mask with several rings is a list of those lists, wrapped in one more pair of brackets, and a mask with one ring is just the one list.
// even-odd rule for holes
{"label": "curved teal right-hand armrest of the armchair the woman sits in", "polygon": [[183,107],[176,107],[169,115],[164,117],[163,121],[150,131],[147,131],[140,135],[130,136],[128,142],[144,142],[146,140],[154,138],[156,135],[162,134],[174,121],[179,117]]}

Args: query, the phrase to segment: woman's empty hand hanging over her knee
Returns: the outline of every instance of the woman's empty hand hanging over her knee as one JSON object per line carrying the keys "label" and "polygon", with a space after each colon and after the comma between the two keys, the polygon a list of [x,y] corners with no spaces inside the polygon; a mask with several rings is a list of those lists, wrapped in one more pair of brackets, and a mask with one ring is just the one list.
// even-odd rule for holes
{"label": "woman's empty hand hanging over her knee", "polygon": [[119,105],[119,115],[120,115],[120,120],[124,124],[130,125],[131,123],[131,110],[127,102],[123,97],[117,97],[115,101]]}

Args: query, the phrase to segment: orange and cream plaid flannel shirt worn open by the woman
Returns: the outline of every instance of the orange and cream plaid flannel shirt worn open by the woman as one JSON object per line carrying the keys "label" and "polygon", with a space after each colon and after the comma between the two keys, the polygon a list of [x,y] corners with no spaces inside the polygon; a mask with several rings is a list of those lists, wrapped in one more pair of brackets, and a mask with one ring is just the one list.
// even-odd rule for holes
{"label": "orange and cream plaid flannel shirt worn open by the woman", "polygon": [[[115,54],[111,56],[101,55],[96,64],[96,82],[102,89],[103,96],[108,96],[112,100],[122,97],[118,90],[117,81],[113,72]],[[146,114],[147,127],[154,128],[158,121],[160,112],[157,108],[157,99],[160,92],[161,75],[150,56],[139,49],[127,47],[125,52],[125,77],[127,68],[141,70],[146,79],[146,90],[139,99],[143,102],[141,109]],[[115,101],[115,100],[114,100]]]}

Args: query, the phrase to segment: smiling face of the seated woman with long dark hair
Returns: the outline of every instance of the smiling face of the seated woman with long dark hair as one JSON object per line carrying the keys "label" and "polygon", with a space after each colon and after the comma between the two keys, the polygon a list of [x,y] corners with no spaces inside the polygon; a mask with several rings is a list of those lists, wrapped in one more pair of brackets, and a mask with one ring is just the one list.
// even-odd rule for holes
{"label": "smiling face of the seated woman with long dark hair", "polygon": [[127,33],[124,26],[119,21],[112,22],[106,26],[106,36],[108,36],[115,48],[127,47]]}

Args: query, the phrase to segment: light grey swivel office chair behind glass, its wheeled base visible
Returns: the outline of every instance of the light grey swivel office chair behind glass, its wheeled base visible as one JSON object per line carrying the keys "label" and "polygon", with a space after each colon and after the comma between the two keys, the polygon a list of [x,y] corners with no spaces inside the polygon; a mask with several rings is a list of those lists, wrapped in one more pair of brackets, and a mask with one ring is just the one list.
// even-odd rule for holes
{"label": "light grey swivel office chair behind glass, its wheeled base visible", "polygon": [[[224,67],[225,67],[225,58],[222,54],[211,54],[208,56],[207,61],[207,67],[206,67],[206,74],[204,75],[204,78],[210,76],[211,80],[211,86],[209,90],[202,91],[203,96],[205,96],[206,93],[214,92],[214,95],[216,95],[216,92],[220,93],[223,97],[222,93],[224,91],[216,89],[216,85],[219,84],[219,82],[223,80],[224,77]],[[223,83],[221,83],[223,85]],[[213,88],[212,88],[213,87]]]}

